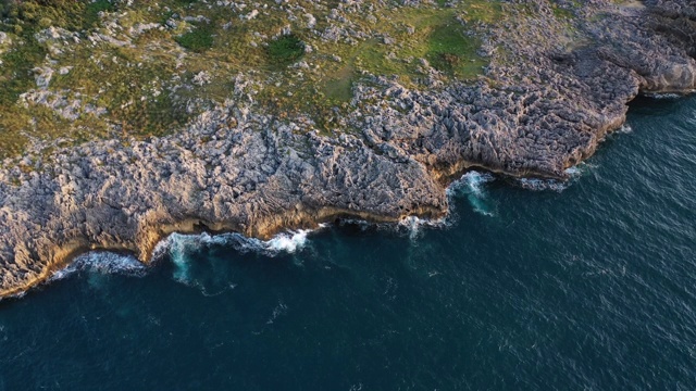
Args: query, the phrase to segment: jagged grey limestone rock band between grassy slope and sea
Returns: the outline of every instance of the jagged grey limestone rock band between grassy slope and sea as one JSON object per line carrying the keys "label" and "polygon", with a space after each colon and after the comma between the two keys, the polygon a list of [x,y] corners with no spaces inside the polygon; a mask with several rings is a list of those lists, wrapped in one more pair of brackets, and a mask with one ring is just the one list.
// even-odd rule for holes
{"label": "jagged grey limestone rock band between grassy slope and sea", "polygon": [[320,136],[309,119],[231,103],[172,136],[5,161],[0,297],[89,249],[147,262],[173,231],[266,238],[339,217],[438,217],[445,186],[462,172],[562,179],[621,126],[638,93],[696,88],[693,1],[588,1],[570,23],[589,39],[564,45],[546,33],[556,23],[546,2],[526,3],[538,8],[535,18],[520,16],[524,28],[487,42],[517,61],[494,54],[474,85],[431,90],[374,76],[355,86],[356,109],[341,118],[352,133]]}

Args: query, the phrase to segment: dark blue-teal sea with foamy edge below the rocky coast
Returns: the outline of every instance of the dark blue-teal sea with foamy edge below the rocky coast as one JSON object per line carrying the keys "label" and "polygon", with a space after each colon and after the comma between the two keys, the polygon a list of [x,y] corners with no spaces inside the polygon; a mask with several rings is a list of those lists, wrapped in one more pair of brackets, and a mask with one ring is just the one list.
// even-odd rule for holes
{"label": "dark blue-teal sea with foamy edge below the rocky coast", "polygon": [[84,260],[0,302],[0,391],[694,390],[696,99],[629,124],[564,189],[470,175],[447,227]]}

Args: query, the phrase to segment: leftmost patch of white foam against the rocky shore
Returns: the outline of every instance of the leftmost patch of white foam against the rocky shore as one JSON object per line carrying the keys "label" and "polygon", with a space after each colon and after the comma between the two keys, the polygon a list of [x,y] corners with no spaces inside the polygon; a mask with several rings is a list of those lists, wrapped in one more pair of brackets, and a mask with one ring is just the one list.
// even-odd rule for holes
{"label": "leftmost patch of white foam against the rocky shore", "polygon": [[53,273],[50,280],[63,279],[78,272],[141,277],[145,276],[147,269],[147,266],[133,255],[95,251],[79,255],[67,267]]}

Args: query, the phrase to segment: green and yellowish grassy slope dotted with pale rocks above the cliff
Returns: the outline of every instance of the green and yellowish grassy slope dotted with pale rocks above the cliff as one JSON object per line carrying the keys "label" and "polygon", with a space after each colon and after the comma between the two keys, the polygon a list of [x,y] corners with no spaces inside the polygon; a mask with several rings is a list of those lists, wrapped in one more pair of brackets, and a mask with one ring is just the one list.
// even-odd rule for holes
{"label": "green and yellowish grassy slope dotted with pale rocks above the cliff", "polygon": [[[237,75],[251,81],[244,99],[334,131],[365,74],[425,88],[424,59],[445,81],[476,79],[487,64],[478,37],[505,20],[498,0],[356,7],[334,17],[337,1],[0,0],[0,157],[32,138],[63,146],[176,131],[240,99]],[[50,81],[38,86],[45,68]]]}

